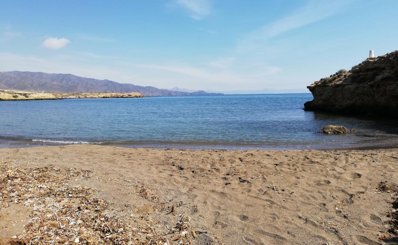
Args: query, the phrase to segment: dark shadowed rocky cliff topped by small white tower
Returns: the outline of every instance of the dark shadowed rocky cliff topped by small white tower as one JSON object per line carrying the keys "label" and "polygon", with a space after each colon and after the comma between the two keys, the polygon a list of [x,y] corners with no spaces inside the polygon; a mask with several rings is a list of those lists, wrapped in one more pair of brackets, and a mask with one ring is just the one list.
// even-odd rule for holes
{"label": "dark shadowed rocky cliff topped by small white tower", "polygon": [[398,50],[367,59],[307,87],[304,110],[398,117]]}

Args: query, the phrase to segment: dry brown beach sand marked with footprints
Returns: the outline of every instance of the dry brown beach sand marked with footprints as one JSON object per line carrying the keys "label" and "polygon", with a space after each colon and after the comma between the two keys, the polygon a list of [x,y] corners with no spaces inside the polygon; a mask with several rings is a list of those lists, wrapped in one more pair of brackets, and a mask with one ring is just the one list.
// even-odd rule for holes
{"label": "dry brown beach sand marked with footprints", "polygon": [[[180,214],[189,215],[193,230],[207,231],[198,233],[193,244],[376,245],[389,229],[387,214],[397,198],[397,149],[0,149],[0,161],[11,161],[12,166],[24,167],[28,160],[31,167],[92,171],[90,178],[70,183],[98,189],[110,208],[123,212],[128,207],[143,214],[131,218],[133,225],[156,220],[156,232],[167,232]],[[132,195],[129,182],[148,186],[161,201],[172,200],[167,205],[175,206],[174,213],[154,212],[158,204]],[[23,232],[31,210],[1,199],[0,205],[0,238],[6,241]]]}

